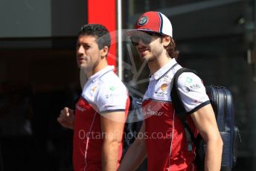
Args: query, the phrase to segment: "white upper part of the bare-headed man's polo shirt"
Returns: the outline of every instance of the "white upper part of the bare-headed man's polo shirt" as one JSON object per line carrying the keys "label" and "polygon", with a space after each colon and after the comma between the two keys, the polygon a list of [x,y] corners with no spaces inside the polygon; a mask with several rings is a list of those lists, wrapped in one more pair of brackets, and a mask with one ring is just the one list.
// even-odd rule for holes
{"label": "white upper part of the bare-headed man's polo shirt", "polygon": [[127,88],[107,66],[92,75],[83,87],[82,97],[99,113],[124,110],[127,105]]}

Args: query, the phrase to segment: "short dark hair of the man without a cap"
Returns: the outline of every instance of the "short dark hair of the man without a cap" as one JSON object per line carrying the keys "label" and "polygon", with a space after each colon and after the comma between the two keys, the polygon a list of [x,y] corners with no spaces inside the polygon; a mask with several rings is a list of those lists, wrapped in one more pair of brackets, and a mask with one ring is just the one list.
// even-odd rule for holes
{"label": "short dark hair of the man without a cap", "polygon": [[97,38],[97,45],[99,49],[104,48],[107,46],[110,47],[111,39],[109,35],[109,31],[100,24],[88,24],[83,25],[80,29],[79,36],[96,36]]}

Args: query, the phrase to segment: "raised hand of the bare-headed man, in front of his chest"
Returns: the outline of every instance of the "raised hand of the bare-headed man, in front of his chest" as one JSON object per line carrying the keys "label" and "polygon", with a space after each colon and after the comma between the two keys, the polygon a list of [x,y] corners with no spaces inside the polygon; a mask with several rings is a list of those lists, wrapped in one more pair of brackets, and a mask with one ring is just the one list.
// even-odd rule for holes
{"label": "raised hand of the bare-headed man, in front of his chest", "polygon": [[74,128],[74,110],[65,107],[60,111],[60,116],[57,118],[60,125],[68,129]]}

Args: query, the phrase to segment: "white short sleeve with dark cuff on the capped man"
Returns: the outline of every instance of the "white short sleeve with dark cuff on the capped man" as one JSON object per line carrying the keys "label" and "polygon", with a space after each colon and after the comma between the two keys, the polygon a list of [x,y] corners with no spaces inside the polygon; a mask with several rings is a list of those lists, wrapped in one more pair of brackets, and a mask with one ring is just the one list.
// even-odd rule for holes
{"label": "white short sleeve with dark cuff on the capped man", "polygon": [[186,112],[195,112],[210,103],[205,86],[196,74],[182,73],[178,78],[178,90]]}

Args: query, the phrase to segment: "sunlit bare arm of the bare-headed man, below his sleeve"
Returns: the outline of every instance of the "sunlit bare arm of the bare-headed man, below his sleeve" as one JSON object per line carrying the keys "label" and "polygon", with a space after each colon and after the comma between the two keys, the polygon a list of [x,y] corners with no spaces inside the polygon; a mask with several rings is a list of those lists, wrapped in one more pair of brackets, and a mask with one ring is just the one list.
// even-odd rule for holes
{"label": "sunlit bare arm of the bare-headed man, below his sleeve", "polygon": [[122,143],[125,112],[101,114],[101,132],[103,135],[102,170],[117,170],[118,154]]}

